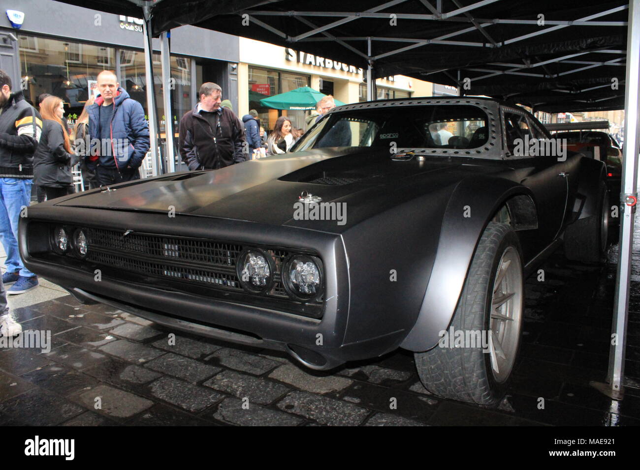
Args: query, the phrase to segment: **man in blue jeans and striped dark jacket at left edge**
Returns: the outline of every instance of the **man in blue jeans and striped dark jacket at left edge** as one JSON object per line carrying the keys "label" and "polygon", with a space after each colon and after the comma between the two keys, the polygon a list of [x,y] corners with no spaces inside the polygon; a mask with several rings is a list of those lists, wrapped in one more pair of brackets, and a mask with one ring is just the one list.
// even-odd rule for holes
{"label": "man in blue jeans and striped dark jacket at left edge", "polygon": [[[22,96],[12,93],[9,75],[0,70],[0,238],[6,253],[7,294],[22,294],[38,286],[24,267],[18,250],[18,221],[31,201],[33,153],[42,134],[42,118]],[[24,216],[24,213],[23,213]]]}

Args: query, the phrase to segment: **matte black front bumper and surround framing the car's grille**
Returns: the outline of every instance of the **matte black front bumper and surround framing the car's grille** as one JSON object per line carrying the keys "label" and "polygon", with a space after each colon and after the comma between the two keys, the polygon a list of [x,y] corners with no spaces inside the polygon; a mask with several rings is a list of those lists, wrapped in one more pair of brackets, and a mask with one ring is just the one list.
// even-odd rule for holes
{"label": "matte black front bumper and surround framing the car's grille", "polygon": [[[209,217],[86,210],[74,207],[32,207],[20,220],[19,244],[26,267],[65,287],[84,303],[102,302],[133,315],[218,340],[267,349],[286,350],[305,366],[327,370],[349,360],[376,357],[397,347],[398,332],[348,345],[344,344],[349,316],[348,261],[339,235],[287,226],[266,226]],[[92,269],[61,265],[31,256],[29,244],[34,223],[70,223],[108,226],[117,230],[163,233],[183,237],[237,240],[246,244],[307,249],[319,253],[324,263],[324,311],[320,319],[205,295],[158,288],[149,283],[110,278],[97,281]]]}

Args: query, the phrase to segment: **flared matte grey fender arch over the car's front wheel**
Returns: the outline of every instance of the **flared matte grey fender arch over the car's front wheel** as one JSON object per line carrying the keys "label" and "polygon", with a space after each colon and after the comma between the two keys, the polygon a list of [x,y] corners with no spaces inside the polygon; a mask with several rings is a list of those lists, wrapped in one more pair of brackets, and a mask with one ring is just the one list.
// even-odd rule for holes
{"label": "flared matte grey fender arch over the car's front wheel", "polygon": [[[467,272],[484,227],[505,201],[530,189],[511,180],[473,176],[462,180],[445,209],[429,284],[420,312],[401,347],[414,352],[433,348],[458,305]],[[468,217],[465,217],[468,215]]]}

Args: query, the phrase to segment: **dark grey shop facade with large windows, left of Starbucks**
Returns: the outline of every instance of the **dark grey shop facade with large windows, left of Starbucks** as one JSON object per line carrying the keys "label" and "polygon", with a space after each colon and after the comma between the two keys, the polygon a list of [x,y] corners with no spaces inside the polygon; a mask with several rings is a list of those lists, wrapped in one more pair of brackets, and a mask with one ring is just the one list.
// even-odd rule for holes
{"label": "dark grey shop facade with large windows, left of Starbucks", "polygon": [[[96,93],[97,75],[102,70],[113,70],[120,86],[140,102],[147,114],[142,20],[50,0],[0,0],[0,8],[3,14],[0,35],[9,38],[12,45],[2,51],[3,67],[10,73],[17,63],[13,89],[22,88],[31,104],[35,105],[42,93],[60,97],[68,123],[74,125],[88,97]],[[20,29],[12,27],[6,10],[24,13]],[[177,137],[179,120],[195,106],[203,81],[220,84],[223,98],[228,98],[237,109],[237,36],[182,26],[171,31],[170,51],[172,116],[164,116],[160,42],[154,40],[154,90],[161,152],[165,119],[173,118]],[[179,160],[177,148],[174,153]],[[177,162],[176,169],[179,168]]]}

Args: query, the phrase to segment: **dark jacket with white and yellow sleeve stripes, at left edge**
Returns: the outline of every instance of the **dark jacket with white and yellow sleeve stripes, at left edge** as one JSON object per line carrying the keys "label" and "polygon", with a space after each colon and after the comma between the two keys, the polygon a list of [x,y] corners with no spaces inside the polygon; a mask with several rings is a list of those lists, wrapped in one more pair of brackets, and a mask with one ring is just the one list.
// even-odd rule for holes
{"label": "dark jacket with white and yellow sleeve stripes, at left edge", "polygon": [[42,118],[22,91],[12,93],[0,111],[0,177],[33,178],[33,153],[42,135]]}

